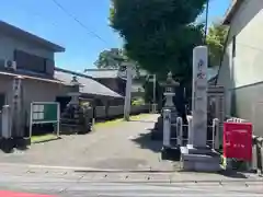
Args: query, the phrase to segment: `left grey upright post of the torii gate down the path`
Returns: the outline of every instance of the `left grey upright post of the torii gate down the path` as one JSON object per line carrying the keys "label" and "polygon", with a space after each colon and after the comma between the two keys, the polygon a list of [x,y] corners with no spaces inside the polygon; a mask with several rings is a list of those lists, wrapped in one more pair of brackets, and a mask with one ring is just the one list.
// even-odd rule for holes
{"label": "left grey upright post of the torii gate down the path", "polygon": [[132,92],[132,65],[128,62],[125,62],[125,65],[122,66],[123,70],[126,70],[126,90],[125,90],[125,103],[124,103],[124,119],[126,121],[129,120],[129,113],[130,113],[130,92]]}

